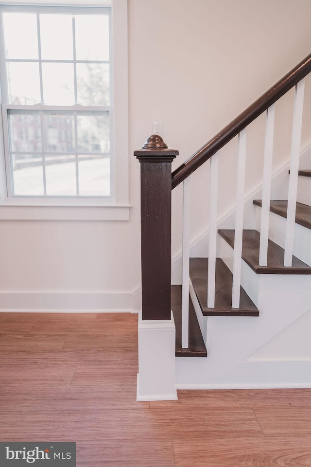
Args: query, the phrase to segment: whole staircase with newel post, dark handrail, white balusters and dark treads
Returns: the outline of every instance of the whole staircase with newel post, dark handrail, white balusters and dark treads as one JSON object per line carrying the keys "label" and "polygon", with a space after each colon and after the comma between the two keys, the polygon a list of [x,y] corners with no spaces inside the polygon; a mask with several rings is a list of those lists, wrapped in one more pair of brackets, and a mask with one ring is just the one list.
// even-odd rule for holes
{"label": "whole staircase with newel post, dark handrail, white balusters and dark treads", "polygon": [[[147,323],[153,326],[153,320],[153,323],[159,319],[162,324],[167,323],[167,330],[172,330],[173,324],[176,357],[173,362],[169,354],[162,360],[150,354],[149,367],[150,360],[154,360],[159,380],[162,368],[167,366],[163,374],[175,372],[171,389],[165,389],[164,394],[159,390],[154,395],[151,386],[147,388],[150,381],[150,385],[153,384],[153,375],[150,368],[146,369],[146,358],[142,357],[146,348],[141,339],[138,400],[176,398],[173,380],[180,389],[311,387],[311,351],[307,351],[308,358],[303,358],[306,352],[302,355],[302,351],[299,356],[303,344],[298,342],[306,326],[311,325],[308,314],[311,310],[311,170],[299,170],[304,77],[309,72],[311,55],[173,172],[172,188],[183,182],[181,285],[170,287],[167,279],[165,282],[163,279],[170,269],[168,256],[164,254],[169,249],[170,220],[162,225],[161,213],[165,203],[170,209],[171,198],[167,180],[163,185],[160,181],[164,164],[167,172],[178,152],[167,149],[156,135],[149,137],[143,149],[135,152],[142,166],[143,308],[138,336],[139,333],[143,335]],[[288,199],[270,200],[274,105],[293,86],[292,154],[290,168],[286,169]],[[246,128],[264,111],[262,199],[253,200],[254,228],[243,229]],[[236,135],[239,136],[239,156],[235,220],[231,221],[231,229],[225,229],[217,224],[218,151]],[[207,161],[210,164],[208,258],[193,258],[190,257],[190,175]],[[163,196],[156,209],[155,198],[148,198],[150,194],[147,193],[150,177],[154,183],[153,196],[160,192]],[[156,219],[151,216],[152,211],[156,211]],[[146,239],[149,247],[150,244],[154,246],[154,275]],[[169,288],[171,306],[167,295]],[[160,317],[155,313],[158,300],[161,302]],[[158,330],[158,336],[160,329],[164,329],[161,326],[153,328]],[[163,342],[163,336],[158,342]],[[295,349],[291,353],[287,350],[291,342],[287,340],[292,338]],[[145,373],[146,385],[140,380]],[[157,384],[158,381],[155,386]]]}

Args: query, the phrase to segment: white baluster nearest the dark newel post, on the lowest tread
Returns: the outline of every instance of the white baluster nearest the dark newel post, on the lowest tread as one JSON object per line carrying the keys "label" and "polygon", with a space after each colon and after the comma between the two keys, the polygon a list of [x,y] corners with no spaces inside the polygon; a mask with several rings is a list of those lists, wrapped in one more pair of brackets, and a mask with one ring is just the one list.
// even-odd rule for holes
{"label": "white baluster nearest the dark newel post, on the lowest tread", "polygon": [[189,347],[190,176],[183,181],[183,277],[181,293],[181,346]]}

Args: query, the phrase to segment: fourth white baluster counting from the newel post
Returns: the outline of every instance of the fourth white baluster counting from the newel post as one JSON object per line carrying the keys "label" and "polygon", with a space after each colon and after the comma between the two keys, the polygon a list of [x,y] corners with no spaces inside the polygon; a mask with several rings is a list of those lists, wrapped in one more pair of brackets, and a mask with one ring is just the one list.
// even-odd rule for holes
{"label": "fourth white baluster counting from the newel post", "polygon": [[266,112],[266,135],[265,135],[264,156],[263,156],[263,184],[262,184],[262,201],[261,201],[259,266],[267,266],[267,258],[268,258],[274,118],[275,118],[275,104],[269,107]]}

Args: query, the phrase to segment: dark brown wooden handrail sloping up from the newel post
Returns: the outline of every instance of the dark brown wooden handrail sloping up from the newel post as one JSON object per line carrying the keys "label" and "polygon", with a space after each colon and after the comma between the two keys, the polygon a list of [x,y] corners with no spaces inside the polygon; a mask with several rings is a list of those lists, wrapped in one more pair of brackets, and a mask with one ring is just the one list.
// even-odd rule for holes
{"label": "dark brown wooden handrail sloping up from the newel post", "polygon": [[280,97],[293,88],[301,79],[311,72],[311,54],[302,60],[289,73],[283,76],[272,88],[267,90],[251,106],[246,108],[238,117],[225,126],[214,138],[201,147],[193,156],[187,159],[172,173],[172,189],[184,181],[192,172],[212,157],[232,138],[267,110]]}

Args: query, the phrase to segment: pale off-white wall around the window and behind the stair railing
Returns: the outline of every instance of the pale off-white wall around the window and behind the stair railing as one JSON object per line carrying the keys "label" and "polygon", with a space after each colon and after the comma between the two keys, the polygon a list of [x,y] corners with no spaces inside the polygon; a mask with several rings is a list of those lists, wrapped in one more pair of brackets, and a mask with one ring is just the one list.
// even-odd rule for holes
{"label": "pale off-white wall around the window and behind the stair railing", "polygon": [[[151,121],[161,120],[165,141],[180,151],[177,167],[311,52],[310,17],[310,0],[129,0],[130,220],[0,221],[2,295],[101,292],[102,308],[113,308],[104,292],[120,292],[128,300],[122,307],[135,307],[128,297],[140,283],[139,163],[131,154]],[[275,166],[288,157],[291,115],[283,108],[291,98],[276,110],[285,131],[276,129]],[[261,118],[249,131],[246,191],[261,177],[263,135]],[[220,216],[234,199],[236,146],[220,157]],[[192,201],[207,199],[206,180],[203,168],[193,176]],[[180,192],[173,193],[173,255],[181,242]],[[203,202],[193,204],[192,237],[206,229],[205,211]]]}

